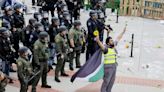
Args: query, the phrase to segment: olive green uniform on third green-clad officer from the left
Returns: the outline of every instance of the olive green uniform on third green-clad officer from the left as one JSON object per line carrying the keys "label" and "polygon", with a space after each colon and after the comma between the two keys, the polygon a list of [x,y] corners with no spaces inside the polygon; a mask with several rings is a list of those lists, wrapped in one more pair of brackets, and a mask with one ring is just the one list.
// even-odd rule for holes
{"label": "olive green uniform on third green-clad officer from the left", "polygon": [[[55,43],[56,43],[56,53],[57,53],[57,65],[55,69],[55,77],[59,77],[59,71],[61,71],[61,74],[64,74],[64,66],[65,62],[67,61],[67,54],[69,50],[69,44],[67,37],[62,37],[60,33],[56,35],[55,37]],[[63,57],[62,57],[63,56]]]}

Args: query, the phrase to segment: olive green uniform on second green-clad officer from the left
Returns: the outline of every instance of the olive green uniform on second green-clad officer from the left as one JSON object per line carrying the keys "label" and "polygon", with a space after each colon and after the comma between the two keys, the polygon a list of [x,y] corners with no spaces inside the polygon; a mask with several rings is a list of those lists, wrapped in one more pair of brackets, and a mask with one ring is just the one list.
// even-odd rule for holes
{"label": "olive green uniform on second green-clad officer from the left", "polygon": [[34,43],[34,62],[40,66],[42,86],[47,85],[48,58],[49,50],[48,43],[41,42],[39,39]]}

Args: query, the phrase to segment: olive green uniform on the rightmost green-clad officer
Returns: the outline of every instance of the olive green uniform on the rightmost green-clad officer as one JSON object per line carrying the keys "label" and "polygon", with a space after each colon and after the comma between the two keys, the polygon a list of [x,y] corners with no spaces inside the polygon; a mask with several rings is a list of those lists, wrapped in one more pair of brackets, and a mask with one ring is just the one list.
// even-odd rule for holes
{"label": "olive green uniform on the rightmost green-clad officer", "polygon": [[[69,39],[73,39],[74,41],[74,55],[72,56],[75,56],[76,67],[79,67],[81,66],[80,54],[84,42],[84,34],[81,30],[77,30],[74,27],[72,27],[69,31]],[[73,58],[70,59],[70,67],[73,67]]]}

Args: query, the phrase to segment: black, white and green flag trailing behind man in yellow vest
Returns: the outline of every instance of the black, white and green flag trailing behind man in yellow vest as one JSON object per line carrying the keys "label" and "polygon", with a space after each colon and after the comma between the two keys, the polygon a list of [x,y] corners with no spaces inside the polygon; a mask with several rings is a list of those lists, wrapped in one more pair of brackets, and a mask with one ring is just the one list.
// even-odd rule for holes
{"label": "black, white and green flag trailing behind man in yellow vest", "polygon": [[101,49],[97,50],[93,56],[72,76],[71,82],[75,79],[96,82],[103,78],[104,68]]}

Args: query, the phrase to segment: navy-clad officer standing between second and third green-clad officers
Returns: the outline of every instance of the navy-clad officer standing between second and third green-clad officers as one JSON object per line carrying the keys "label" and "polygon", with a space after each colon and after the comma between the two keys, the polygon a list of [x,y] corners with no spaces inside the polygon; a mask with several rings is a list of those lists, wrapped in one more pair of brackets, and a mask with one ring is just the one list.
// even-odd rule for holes
{"label": "navy-clad officer standing between second and third green-clad officers", "polygon": [[50,48],[50,61],[51,64],[54,64],[54,58],[55,58],[55,37],[56,35],[59,33],[58,32],[58,28],[59,28],[59,19],[57,17],[52,17],[51,19],[51,25],[49,27],[49,31],[48,31],[48,34],[50,36],[50,45],[49,45],[49,48]]}

